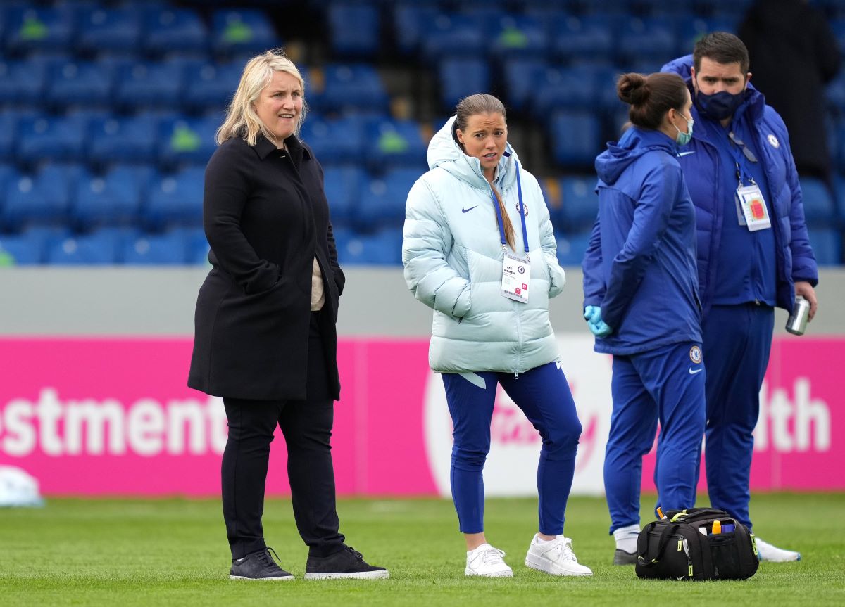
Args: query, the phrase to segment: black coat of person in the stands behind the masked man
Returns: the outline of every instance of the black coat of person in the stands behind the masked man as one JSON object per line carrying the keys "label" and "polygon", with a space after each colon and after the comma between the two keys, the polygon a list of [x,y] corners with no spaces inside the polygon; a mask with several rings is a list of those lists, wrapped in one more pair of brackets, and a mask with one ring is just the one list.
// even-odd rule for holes
{"label": "black coat of person in the stands behind the masked man", "polygon": [[839,70],[836,38],[803,0],[758,0],[739,27],[751,82],[787,125],[799,175],[829,176],[825,84]]}

